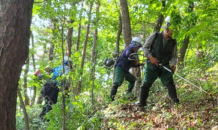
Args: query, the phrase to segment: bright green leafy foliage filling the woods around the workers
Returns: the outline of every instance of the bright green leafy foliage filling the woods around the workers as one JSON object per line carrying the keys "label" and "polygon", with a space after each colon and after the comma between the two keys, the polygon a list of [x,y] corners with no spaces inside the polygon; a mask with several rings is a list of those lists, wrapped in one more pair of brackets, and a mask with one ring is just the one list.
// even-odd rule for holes
{"label": "bright green leafy foliage filling the woods around the workers", "polygon": [[[36,69],[41,69],[44,73],[44,79],[38,81],[33,76],[33,61],[30,57],[30,70],[28,73],[28,89],[33,90],[36,87],[36,97],[39,96],[43,84],[51,79],[51,75],[44,72],[46,66],[56,67],[62,63],[62,43],[64,53],[66,52],[67,30],[73,28],[72,33],[72,54],[73,69],[70,73],[63,75],[58,80],[67,79],[70,86],[70,97],[66,99],[66,126],[67,129],[155,129],[158,124],[168,125],[179,114],[182,115],[179,128],[197,129],[205,126],[202,113],[198,113],[196,119],[191,119],[190,111],[192,107],[186,108],[187,104],[179,105],[175,109],[180,112],[173,115],[169,109],[167,90],[162,83],[157,80],[151,88],[150,97],[148,98],[148,106],[146,110],[151,112],[148,115],[137,113],[135,117],[128,111],[124,113],[120,109],[123,105],[134,104],[128,100],[125,94],[127,84],[124,83],[119,88],[116,101],[110,101],[110,89],[112,86],[113,69],[107,70],[103,67],[105,58],[111,57],[111,53],[116,50],[117,31],[119,29],[120,7],[118,0],[99,0],[100,12],[96,12],[98,1],[94,1],[92,10],[92,19],[90,22],[90,33],[87,41],[87,51],[85,57],[84,68],[82,69],[82,52],[85,40],[86,26],[88,24],[88,12],[90,1],[80,0],[46,0],[35,1],[33,8],[33,20],[31,30],[34,35],[34,47],[31,46],[30,54],[35,55]],[[39,2],[39,3],[38,3]],[[83,6],[82,6],[82,2]],[[217,94],[217,61],[218,61],[218,33],[217,33],[217,2],[215,0],[190,1],[190,0],[168,0],[163,7],[163,1],[159,0],[128,0],[129,16],[131,19],[132,36],[140,36],[143,41],[153,31],[153,27],[160,13],[171,16],[171,28],[176,29],[174,38],[177,39],[178,49],[183,46],[183,40],[189,37],[189,46],[186,51],[184,67],[178,69],[176,73],[190,80],[208,94]],[[81,15],[81,20],[80,20]],[[98,24],[96,24],[98,19]],[[73,20],[73,23],[68,21]],[[76,43],[78,38],[78,25],[81,23],[82,28],[79,39],[79,50],[76,51]],[[63,29],[63,33],[62,33]],[[98,39],[96,46],[96,63],[95,66],[91,62],[91,54],[93,47],[93,35],[95,29],[98,29]],[[124,40],[120,37],[120,52],[124,49]],[[49,61],[49,49],[54,45],[53,60]],[[43,54],[42,56],[40,56]],[[140,57],[140,59],[143,59]],[[95,67],[94,95],[92,104],[92,69]],[[180,67],[178,67],[180,68]],[[83,72],[83,75],[81,75]],[[76,95],[77,83],[82,80],[82,92]],[[209,98],[208,94],[203,94],[199,89],[194,88],[190,84],[175,77],[175,83],[178,88],[178,95],[181,102],[188,102],[199,106],[199,102],[203,102],[204,98]],[[21,75],[19,84],[22,86],[23,76]],[[24,95],[24,94],[23,94]],[[31,95],[31,94],[28,94]],[[31,95],[32,96],[32,95]],[[31,97],[29,96],[29,97]],[[41,122],[38,115],[42,106],[33,104],[27,107],[29,114],[30,129],[62,129],[62,93],[59,94],[58,103],[53,105],[53,110],[46,117],[49,122]],[[75,97],[75,99],[73,98]],[[134,101],[133,101],[134,102]],[[110,104],[109,104],[110,103]],[[19,100],[18,103],[19,104]],[[107,106],[105,108],[104,106]],[[206,103],[204,104],[206,109]],[[130,105],[131,106],[131,105]],[[161,110],[160,110],[160,109]],[[183,109],[184,108],[184,109]],[[191,109],[191,110],[190,110]],[[214,108],[215,109],[215,108]],[[215,109],[216,110],[216,109]],[[203,111],[203,110],[195,110]],[[120,113],[119,113],[120,112]],[[194,112],[194,110],[193,110]],[[116,113],[116,114],[115,114]],[[130,114],[131,113],[131,114]],[[122,118],[119,118],[122,117]],[[136,121],[136,117],[140,117],[140,121]],[[123,120],[130,118],[132,120]],[[155,120],[154,120],[155,119]],[[187,121],[187,119],[189,119]],[[216,118],[213,117],[215,120]],[[158,120],[163,122],[158,123]],[[107,121],[107,122],[106,122]],[[190,122],[196,122],[196,126],[190,126]],[[210,122],[214,124],[214,122]],[[18,130],[25,129],[24,117],[22,110],[17,106],[16,125]],[[174,125],[174,126],[177,126]],[[166,129],[176,129],[170,125]],[[160,126],[159,126],[160,127]]]}

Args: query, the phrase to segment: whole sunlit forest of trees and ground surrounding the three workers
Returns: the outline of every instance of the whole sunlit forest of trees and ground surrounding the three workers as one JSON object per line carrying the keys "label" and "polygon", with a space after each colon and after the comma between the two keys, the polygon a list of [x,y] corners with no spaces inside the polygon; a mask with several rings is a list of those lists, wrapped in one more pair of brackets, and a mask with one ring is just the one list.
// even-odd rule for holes
{"label": "whole sunlit forest of trees and ground surrounding the three workers", "polygon": [[[112,101],[115,69],[105,59],[116,59],[133,37],[145,43],[162,32],[167,16],[177,41],[180,103],[158,78],[145,111],[138,109],[143,49],[145,65],[130,70],[132,95],[124,80]],[[1,0],[0,130],[218,130],[217,16],[217,0]],[[61,91],[42,119],[43,88],[58,66]]]}

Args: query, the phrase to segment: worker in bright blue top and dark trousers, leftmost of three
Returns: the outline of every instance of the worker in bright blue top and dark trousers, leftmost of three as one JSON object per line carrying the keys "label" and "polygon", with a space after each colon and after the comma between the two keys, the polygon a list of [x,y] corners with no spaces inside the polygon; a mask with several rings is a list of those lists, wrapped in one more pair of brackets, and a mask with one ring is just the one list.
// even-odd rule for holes
{"label": "worker in bright blue top and dark trousers, leftmost of three", "polygon": [[[62,82],[58,82],[57,78],[63,74],[67,74],[72,68],[72,62],[70,60],[64,61],[64,73],[63,65],[60,65],[53,69],[51,82],[45,83],[41,94],[45,98],[45,106],[40,114],[40,118],[44,121],[44,115],[52,110],[52,105],[57,103],[58,92],[60,89],[58,86],[62,86]],[[68,87],[66,87],[67,89]]]}

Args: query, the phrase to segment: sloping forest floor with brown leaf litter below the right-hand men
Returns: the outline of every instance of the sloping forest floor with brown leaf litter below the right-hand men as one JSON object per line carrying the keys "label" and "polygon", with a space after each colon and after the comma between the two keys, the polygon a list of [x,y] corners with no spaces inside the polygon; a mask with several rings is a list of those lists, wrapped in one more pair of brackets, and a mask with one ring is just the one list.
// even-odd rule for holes
{"label": "sloping forest floor with brown leaf litter below the right-hand men", "polygon": [[[103,128],[108,130],[218,130],[218,100],[185,93],[174,104],[166,92],[149,96],[145,111],[138,110],[137,100],[119,97],[103,110]],[[215,97],[215,95],[213,95]],[[217,97],[217,96],[216,96]]]}

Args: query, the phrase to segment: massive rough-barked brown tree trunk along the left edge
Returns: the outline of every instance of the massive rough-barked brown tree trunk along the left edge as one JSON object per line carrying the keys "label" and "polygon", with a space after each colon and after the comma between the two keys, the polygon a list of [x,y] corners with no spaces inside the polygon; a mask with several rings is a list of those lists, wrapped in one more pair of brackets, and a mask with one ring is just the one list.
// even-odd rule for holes
{"label": "massive rough-barked brown tree trunk along the left edge", "polygon": [[1,0],[0,130],[15,130],[18,81],[29,51],[33,0]]}

